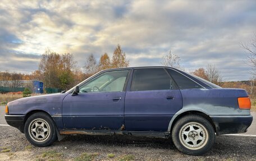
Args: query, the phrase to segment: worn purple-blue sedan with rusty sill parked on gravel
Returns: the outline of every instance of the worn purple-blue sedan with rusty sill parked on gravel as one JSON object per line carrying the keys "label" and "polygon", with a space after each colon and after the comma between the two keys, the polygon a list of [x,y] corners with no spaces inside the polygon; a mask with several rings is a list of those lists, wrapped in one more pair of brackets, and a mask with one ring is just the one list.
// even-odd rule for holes
{"label": "worn purple-blue sedan with rusty sill parked on gravel", "polygon": [[6,105],[6,122],[35,146],[68,134],[172,138],[182,153],[200,155],[216,135],[246,132],[253,117],[244,89],[224,89],[171,67],[100,71],[65,93]]}

